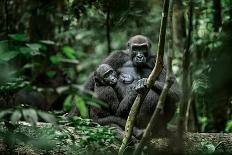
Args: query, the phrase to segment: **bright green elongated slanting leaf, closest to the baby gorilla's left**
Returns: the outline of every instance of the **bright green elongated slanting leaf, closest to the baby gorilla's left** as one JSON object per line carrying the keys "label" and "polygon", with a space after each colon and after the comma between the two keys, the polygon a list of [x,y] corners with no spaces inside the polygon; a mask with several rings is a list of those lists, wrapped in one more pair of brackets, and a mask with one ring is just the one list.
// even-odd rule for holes
{"label": "bright green elongated slanting leaf, closest to the baby gorilla's left", "polygon": [[79,97],[79,96],[74,96],[74,101],[77,106],[77,108],[80,110],[80,114],[83,118],[88,118],[89,117],[89,111],[88,108],[84,102],[84,100]]}

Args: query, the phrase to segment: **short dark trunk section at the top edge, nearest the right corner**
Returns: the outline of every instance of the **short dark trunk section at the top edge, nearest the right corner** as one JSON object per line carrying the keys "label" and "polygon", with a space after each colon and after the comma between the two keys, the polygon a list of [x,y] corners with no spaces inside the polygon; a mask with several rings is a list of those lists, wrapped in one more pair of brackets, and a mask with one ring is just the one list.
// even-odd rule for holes
{"label": "short dark trunk section at the top edge, nearest the right corner", "polygon": [[218,32],[219,28],[222,26],[221,0],[213,0],[213,8],[213,28],[215,32]]}

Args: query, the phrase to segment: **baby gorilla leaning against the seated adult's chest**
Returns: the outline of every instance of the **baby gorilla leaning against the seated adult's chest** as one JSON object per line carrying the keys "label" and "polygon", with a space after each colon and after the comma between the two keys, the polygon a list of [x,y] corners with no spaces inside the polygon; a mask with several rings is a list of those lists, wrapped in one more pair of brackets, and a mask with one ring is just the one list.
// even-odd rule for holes
{"label": "baby gorilla leaning against the seated adult's chest", "polygon": [[[121,76],[121,75],[120,75]],[[127,78],[126,75],[123,77]],[[129,77],[128,77],[129,78]],[[112,125],[114,127],[124,128],[126,120],[115,115],[119,113],[118,107],[121,104],[133,102],[131,93],[127,94],[121,102],[119,102],[118,91],[120,91],[120,82],[118,81],[117,73],[108,64],[101,64],[94,72],[94,92],[97,98],[108,104],[108,108],[90,107],[90,117],[101,125]],[[119,127],[120,126],[120,127]],[[123,130],[121,129],[123,132]],[[141,137],[142,130],[134,128],[133,134],[135,137]]]}

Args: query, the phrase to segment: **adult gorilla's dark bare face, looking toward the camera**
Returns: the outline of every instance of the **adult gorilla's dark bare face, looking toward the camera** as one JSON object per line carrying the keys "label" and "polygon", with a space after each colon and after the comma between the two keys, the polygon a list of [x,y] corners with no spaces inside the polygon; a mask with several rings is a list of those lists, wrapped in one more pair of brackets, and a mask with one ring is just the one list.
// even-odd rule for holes
{"label": "adult gorilla's dark bare face, looking toward the camera", "polygon": [[146,43],[132,44],[130,48],[131,60],[135,66],[143,66],[146,64],[149,54],[149,47]]}

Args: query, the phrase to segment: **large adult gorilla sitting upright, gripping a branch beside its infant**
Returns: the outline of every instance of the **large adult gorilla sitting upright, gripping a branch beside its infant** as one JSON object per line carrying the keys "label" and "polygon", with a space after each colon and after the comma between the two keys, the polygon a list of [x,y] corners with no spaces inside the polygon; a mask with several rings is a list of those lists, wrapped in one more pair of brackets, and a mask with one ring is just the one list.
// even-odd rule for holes
{"label": "large adult gorilla sitting upright, gripping a branch beside its infant", "polygon": [[[119,101],[121,101],[126,94],[128,94],[128,89],[131,89],[132,86],[134,86],[134,90],[136,90],[138,93],[146,87],[146,79],[155,66],[156,58],[156,55],[151,54],[150,49],[150,40],[143,35],[136,35],[129,39],[126,50],[113,52],[103,61],[104,64],[109,64],[119,75],[118,82],[122,83],[117,94]],[[149,91],[140,108],[139,114],[136,118],[137,127],[146,127],[158,102],[158,98],[164,86],[165,78],[166,66],[164,66],[159,78]],[[91,76],[86,82],[85,89],[94,91],[93,76]],[[175,113],[176,103],[179,100],[179,96],[180,91],[175,80],[168,92],[163,113],[160,114],[160,118],[158,119],[159,121],[157,125],[159,126],[159,131],[165,131],[167,123]],[[126,118],[132,103],[133,101],[128,102],[127,105],[120,104],[117,110],[118,115]],[[90,113],[90,116],[94,115],[94,113]]]}

